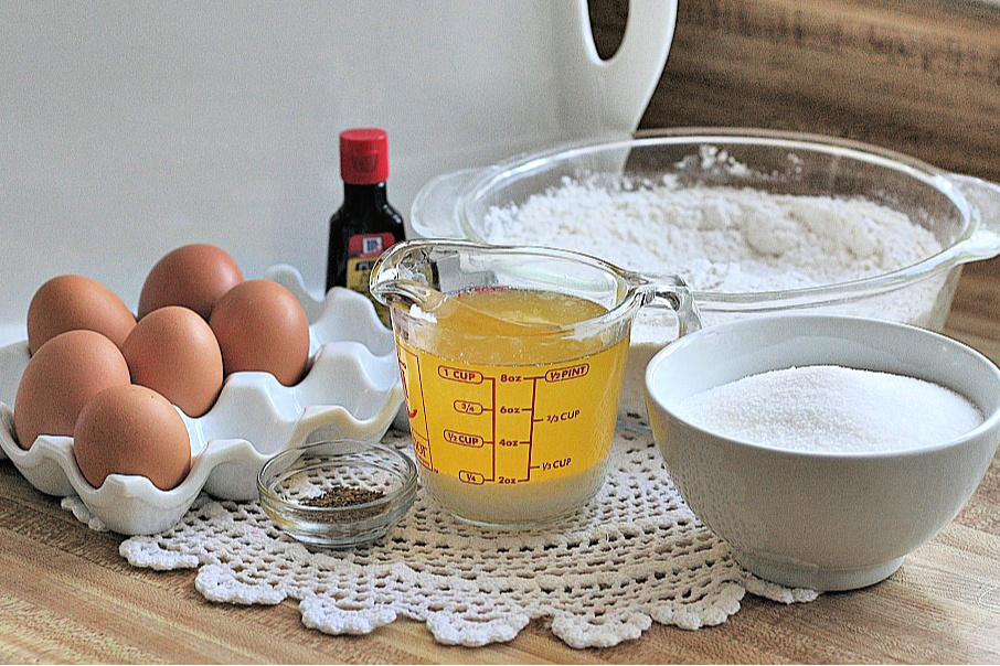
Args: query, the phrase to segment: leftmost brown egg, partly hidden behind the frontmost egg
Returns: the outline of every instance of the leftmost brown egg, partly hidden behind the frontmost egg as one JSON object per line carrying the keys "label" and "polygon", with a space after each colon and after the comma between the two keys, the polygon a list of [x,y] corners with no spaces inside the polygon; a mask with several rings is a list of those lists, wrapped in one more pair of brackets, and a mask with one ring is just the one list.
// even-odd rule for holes
{"label": "leftmost brown egg, partly hidden behind the frontmost egg", "polygon": [[87,401],[129,383],[128,365],[114,342],[94,331],[61,333],[39,347],[18,384],[14,431],[22,449],[40,434],[73,434]]}

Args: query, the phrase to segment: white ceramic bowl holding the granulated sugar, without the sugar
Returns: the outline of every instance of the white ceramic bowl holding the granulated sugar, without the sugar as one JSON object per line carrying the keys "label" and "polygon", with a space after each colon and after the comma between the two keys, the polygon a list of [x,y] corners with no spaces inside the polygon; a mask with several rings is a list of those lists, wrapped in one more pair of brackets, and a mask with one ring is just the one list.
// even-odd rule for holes
{"label": "white ceramic bowl holding the granulated sugar, without the sugar", "polygon": [[[935,445],[820,453],[722,437],[674,411],[715,386],[818,364],[936,383],[986,420]],[[657,444],[690,508],[743,567],[792,587],[845,590],[890,576],[958,514],[1000,441],[996,365],[940,334],[871,319],[762,315],[704,329],[653,357],[646,391]]]}

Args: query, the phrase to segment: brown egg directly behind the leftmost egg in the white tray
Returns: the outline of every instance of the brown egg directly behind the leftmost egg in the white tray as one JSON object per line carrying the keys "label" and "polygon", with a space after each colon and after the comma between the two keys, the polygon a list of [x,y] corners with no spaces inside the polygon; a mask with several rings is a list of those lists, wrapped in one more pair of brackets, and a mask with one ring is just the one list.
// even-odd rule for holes
{"label": "brown egg directly behind the leftmost egg in the white tray", "polygon": [[86,329],[121,345],[136,318],[110,289],[84,276],[52,278],[28,305],[28,348],[39,347],[60,333]]}

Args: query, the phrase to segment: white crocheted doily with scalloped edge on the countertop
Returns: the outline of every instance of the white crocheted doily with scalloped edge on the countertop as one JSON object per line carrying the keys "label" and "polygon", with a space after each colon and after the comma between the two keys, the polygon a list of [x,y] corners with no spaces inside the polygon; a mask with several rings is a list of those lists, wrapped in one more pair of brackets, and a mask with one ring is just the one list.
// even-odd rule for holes
{"label": "white crocheted doily with scalloped edge on the countertop", "polygon": [[[409,436],[390,430],[384,441],[408,447]],[[82,503],[64,506],[102,528]],[[211,601],[297,599],[302,623],[330,634],[365,634],[402,615],[467,646],[510,641],[543,619],[572,647],[604,647],[652,622],[720,624],[746,592],[781,603],[817,597],[742,569],[680,500],[651,437],[627,430],[597,497],[545,529],[472,527],[421,492],[382,540],[317,550],[285,536],[257,503],[202,495],[173,529],[128,538],[119,551],[137,567],[199,568],[194,584]]]}

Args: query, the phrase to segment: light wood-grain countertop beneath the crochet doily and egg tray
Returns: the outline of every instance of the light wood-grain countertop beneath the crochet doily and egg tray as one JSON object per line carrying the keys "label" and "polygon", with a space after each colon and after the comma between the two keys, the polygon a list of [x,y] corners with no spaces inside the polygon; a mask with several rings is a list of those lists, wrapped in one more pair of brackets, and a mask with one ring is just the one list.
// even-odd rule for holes
{"label": "light wood-grain countertop beneath the crochet doily and egg tray", "polygon": [[[967,267],[947,333],[1000,362],[998,312],[1000,262]],[[195,591],[193,570],[134,568],[121,540],[0,462],[0,662],[1000,662],[1000,458],[958,518],[876,586],[790,606],[747,595],[720,626],[655,624],[607,649],[571,649],[541,622],[478,649],[438,645],[406,620],[330,636],[305,629],[295,601],[215,604]]]}

